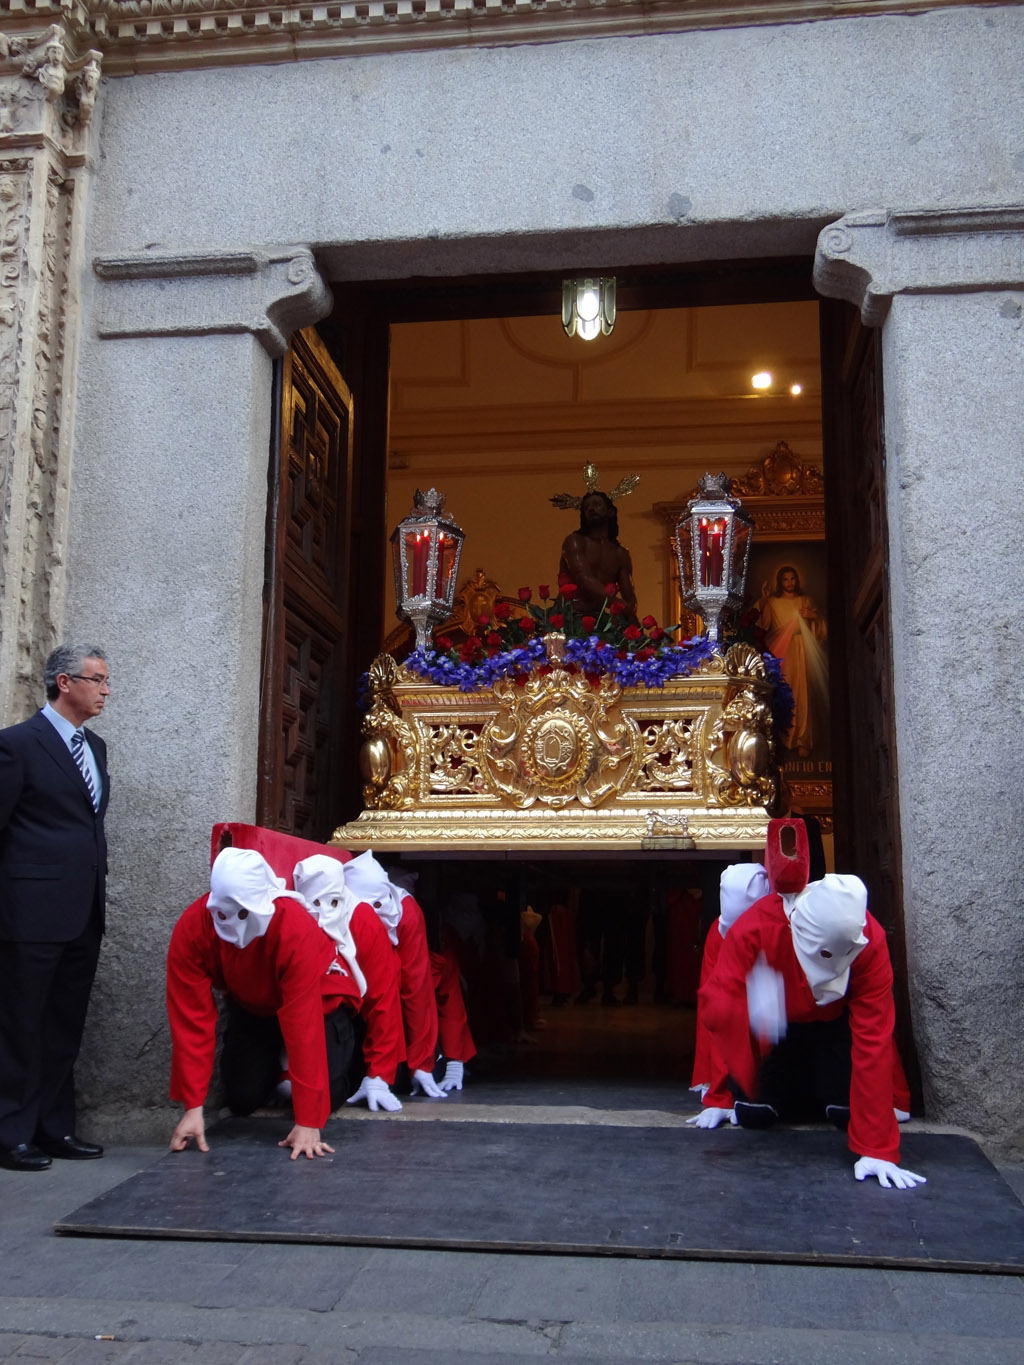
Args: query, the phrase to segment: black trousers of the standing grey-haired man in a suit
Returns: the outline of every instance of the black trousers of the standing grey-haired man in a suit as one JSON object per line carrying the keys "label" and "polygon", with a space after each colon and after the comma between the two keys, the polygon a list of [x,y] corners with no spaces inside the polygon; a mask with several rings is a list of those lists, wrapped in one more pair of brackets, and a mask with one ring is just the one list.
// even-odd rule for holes
{"label": "black trousers of the standing grey-haired man in a suit", "polygon": [[100,960],[100,913],[70,943],[0,942],[0,1145],[75,1130],[74,1066]]}

